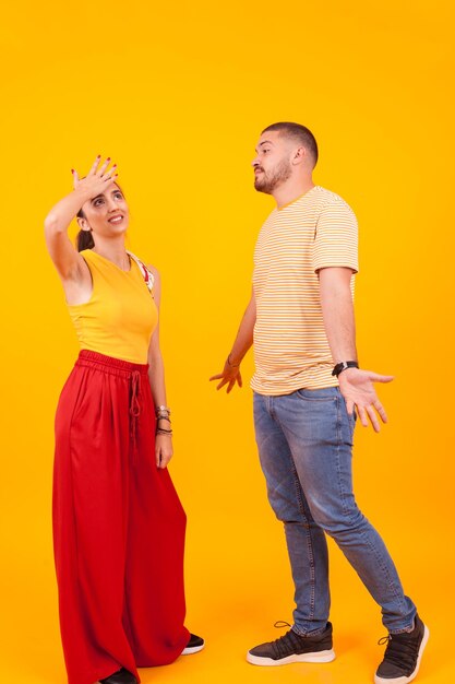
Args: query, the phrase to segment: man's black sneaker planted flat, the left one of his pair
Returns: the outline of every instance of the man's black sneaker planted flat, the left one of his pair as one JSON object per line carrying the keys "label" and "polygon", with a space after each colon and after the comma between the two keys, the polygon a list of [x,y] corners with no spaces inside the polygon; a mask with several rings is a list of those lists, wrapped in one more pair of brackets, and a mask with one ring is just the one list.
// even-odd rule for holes
{"label": "man's black sneaker planted flat, the left one of his pair", "polygon": [[331,662],[335,659],[332,648],[332,624],[321,634],[301,637],[289,629],[275,641],[255,646],[247,653],[253,665],[287,665],[291,662]]}

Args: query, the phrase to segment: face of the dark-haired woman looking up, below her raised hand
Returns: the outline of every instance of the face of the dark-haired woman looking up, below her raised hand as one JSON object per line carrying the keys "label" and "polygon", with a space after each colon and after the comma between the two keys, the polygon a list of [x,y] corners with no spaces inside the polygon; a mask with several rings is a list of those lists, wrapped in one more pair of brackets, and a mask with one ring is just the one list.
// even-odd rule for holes
{"label": "face of the dark-haired woman looking up, below her raised hand", "polygon": [[130,217],[128,204],[115,182],[108,186],[103,194],[97,194],[85,202],[82,211],[85,220],[81,227],[91,228],[95,236],[115,237],[128,228]]}

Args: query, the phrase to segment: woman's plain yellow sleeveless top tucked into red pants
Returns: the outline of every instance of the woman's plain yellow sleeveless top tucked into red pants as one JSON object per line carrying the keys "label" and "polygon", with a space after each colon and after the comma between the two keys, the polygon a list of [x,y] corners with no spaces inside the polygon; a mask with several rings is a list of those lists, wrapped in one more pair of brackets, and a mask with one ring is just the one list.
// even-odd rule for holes
{"label": "woman's plain yellow sleeveless top tucked into red pants", "polygon": [[147,363],[158,310],[139,264],[130,257],[130,270],[122,271],[91,249],[81,256],[92,273],[92,296],[85,304],[68,305],[81,349]]}

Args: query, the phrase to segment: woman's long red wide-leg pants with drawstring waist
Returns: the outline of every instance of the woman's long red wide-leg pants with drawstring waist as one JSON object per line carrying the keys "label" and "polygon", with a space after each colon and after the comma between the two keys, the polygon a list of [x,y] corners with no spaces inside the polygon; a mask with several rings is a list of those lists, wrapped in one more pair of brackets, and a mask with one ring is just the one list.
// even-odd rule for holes
{"label": "woman's long red wide-leg pants with drawstring waist", "polygon": [[82,351],[56,416],[53,542],[69,684],[183,650],[185,515],[155,463],[147,366]]}

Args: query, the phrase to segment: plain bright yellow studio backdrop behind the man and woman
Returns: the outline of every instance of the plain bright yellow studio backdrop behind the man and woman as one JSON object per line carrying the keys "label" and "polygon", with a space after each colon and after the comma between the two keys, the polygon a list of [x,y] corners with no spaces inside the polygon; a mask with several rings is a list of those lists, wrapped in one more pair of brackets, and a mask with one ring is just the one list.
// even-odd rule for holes
{"label": "plain bright yellow studio backdrop behind the man and woman", "polygon": [[221,369],[273,200],[253,189],[258,137],[310,127],[316,181],[361,226],[358,346],[390,425],[357,428],[358,500],[432,633],[420,681],[453,663],[454,111],[450,0],[285,3],[11,2],[1,69],[1,679],[63,683],[50,530],[53,412],[76,355],[43,220],[97,153],[119,164],[129,246],[160,270],[173,409],[171,473],[189,515],[188,625],[206,650],[144,682],[361,684],[380,611],[331,543],[327,665],[260,669],[244,651],[291,620],[284,535],[258,464],[248,379]]}

